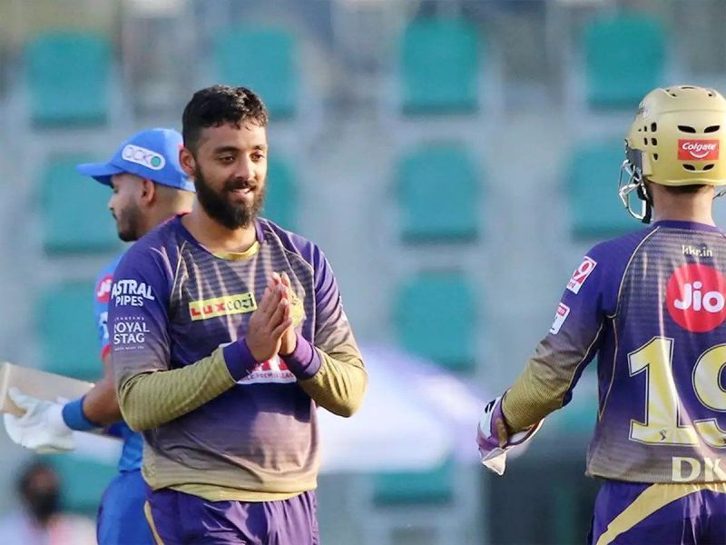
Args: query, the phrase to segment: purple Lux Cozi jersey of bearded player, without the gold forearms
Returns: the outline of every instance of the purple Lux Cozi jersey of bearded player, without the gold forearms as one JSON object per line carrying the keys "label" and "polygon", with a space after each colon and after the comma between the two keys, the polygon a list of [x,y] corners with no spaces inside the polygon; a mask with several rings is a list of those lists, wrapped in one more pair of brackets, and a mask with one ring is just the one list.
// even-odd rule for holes
{"label": "purple Lux Cozi jersey of bearded player, without the gold forearms", "polygon": [[[257,363],[249,350],[237,350],[235,357],[250,360],[244,362],[250,371],[230,390],[143,431],[143,475],[154,490],[201,490],[208,499],[250,501],[313,490],[316,403],[299,380],[328,358],[348,358],[362,371],[337,283],[319,248],[267,220],[258,220],[256,229],[258,243],[250,252],[222,256],[202,247],[177,217],[135,243],[116,269],[109,329],[117,384],[140,373],[184,368],[235,342],[271,272],[288,273],[296,330],[312,352],[309,368],[294,374],[280,357]],[[216,495],[210,491],[215,487],[224,491]]]}

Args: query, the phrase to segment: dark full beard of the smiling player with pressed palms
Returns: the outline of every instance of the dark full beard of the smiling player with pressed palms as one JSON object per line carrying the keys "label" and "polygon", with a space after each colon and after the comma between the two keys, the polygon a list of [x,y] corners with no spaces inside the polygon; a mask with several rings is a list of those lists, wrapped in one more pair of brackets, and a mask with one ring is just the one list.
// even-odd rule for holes
{"label": "dark full beard of the smiling player with pressed palms", "polygon": [[[265,203],[265,185],[260,183],[249,183],[238,178],[229,179],[224,182],[221,192],[210,187],[199,165],[194,170],[194,185],[197,188],[197,199],[201,207],[212,219],[221,223],[227,229],[240,229],[248,227],[262,211]],[[236,189],[250,188],[254,190],[252,203],[232,203],[227,193]]]}

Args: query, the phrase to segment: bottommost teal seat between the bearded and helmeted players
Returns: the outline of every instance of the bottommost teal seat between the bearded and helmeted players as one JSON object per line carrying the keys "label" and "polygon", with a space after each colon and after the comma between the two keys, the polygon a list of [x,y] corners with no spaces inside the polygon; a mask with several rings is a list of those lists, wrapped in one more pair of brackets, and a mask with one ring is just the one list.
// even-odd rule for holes
{"label": "bottommost teal seat between the bearded and helmeted players", "polygon": [[377,507],[448,503],[454,498],[454,462],[431,471],[378,473],[373,500]]}

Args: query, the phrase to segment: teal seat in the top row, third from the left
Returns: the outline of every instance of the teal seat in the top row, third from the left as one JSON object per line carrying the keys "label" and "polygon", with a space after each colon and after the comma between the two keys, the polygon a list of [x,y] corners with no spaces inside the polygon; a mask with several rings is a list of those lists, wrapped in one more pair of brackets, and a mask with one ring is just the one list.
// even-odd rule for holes
{"label": "teal seat in the top row, third from the left", "polygon": [[400,43],[405,114],[461,114],[479,107],[480,44],[464,19],[421,18]]}

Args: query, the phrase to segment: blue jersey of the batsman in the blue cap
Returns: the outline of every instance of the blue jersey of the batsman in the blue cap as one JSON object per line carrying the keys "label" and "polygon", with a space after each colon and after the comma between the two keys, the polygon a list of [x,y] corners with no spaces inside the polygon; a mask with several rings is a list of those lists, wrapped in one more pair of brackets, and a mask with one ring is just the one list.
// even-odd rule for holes
{"label": "blue jersey of the batsman in the blue cap", "polygon": [[[108,301],[111,295],[113,272],[121,261],[123,253],[113,263],[109,263],[98,275],[93,296],[93,312],[98,326],[98,338],[101,342],[101,357],[111,352],[108,336]],[[139,433],[132,431],[125,422],[113,424],[112,432],[123,439],[123,452],[119,460],[119,471],[135,471],[142,467],[143,439]]]}

